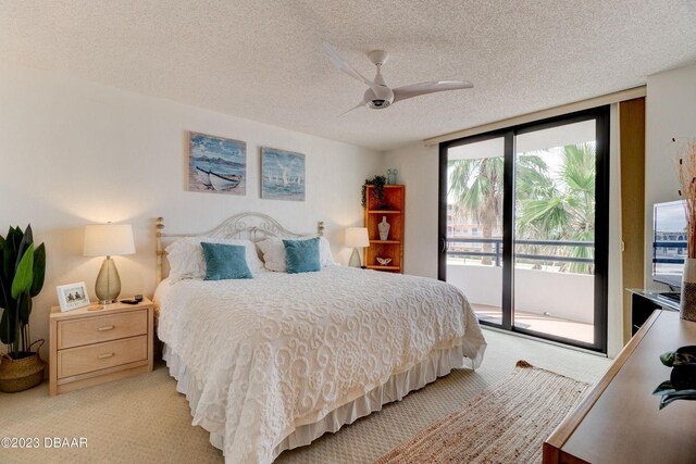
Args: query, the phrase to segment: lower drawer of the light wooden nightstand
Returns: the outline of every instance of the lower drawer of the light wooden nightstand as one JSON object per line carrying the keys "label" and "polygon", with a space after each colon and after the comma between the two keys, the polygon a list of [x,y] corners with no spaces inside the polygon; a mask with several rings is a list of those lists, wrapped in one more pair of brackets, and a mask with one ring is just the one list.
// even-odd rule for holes
{"label": "lower drawer of the light wooden nightstand", "polygon": [[148,337],[126,338],[71,348],[58,353],[58,378],[120,366],[148,359]]}

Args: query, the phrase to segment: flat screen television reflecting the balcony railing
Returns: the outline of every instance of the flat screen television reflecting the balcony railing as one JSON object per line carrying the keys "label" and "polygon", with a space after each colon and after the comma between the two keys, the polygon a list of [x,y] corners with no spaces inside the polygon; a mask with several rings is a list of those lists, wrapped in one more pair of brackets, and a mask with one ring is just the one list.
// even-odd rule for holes
{"label": "flat screen television reflecting the balcony railing", "polygon": [[652,218],[652,280],[680,288],[686,258],[684,201],[655,203]]}

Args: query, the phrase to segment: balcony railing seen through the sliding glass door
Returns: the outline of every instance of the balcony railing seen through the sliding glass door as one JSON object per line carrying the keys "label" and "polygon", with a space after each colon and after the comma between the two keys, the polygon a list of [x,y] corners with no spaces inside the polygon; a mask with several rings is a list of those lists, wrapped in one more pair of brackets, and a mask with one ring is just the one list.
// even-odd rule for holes
{"label": "balcony railing seen through the sliding glass door", "polygon": [[[492,243],[493,251],[453,251],[449,249],[451,243]],[[514,240],[514,244],[531,244],[539,247],[583,247],[592,248],[594,250],[594,241],[575,241],[575,240]],[[447,237],[445,242],[445,252],[448,256],[489,256],[495,261],[496,266],[500,266],[502,261],[502,239],[501,238],[455,238]],[[562,254],[532,254],[532,253],[515,253],[515,259],[531,260],[531,261],[551,261],[551,262],[566,262],[566,263],[586,263],[594,264],[594,258],[576,258],[567,256]]]}

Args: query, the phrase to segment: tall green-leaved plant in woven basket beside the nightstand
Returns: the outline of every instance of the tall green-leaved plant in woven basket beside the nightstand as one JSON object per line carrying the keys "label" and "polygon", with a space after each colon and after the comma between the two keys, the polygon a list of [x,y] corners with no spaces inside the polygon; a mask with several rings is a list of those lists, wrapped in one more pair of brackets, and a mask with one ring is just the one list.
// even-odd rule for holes
{"label": "tall green-leaved plant in woven basket beside the nightstand", "polygon": [[15,392],[44,381],[46,363],[32,343],[29,315],[32,298],[39,294],[46,275],[46,248],[34,248],[32,226],[22,231],[10,227],[0,236],[0,341],[8,347],[0,356],[0,391]]}

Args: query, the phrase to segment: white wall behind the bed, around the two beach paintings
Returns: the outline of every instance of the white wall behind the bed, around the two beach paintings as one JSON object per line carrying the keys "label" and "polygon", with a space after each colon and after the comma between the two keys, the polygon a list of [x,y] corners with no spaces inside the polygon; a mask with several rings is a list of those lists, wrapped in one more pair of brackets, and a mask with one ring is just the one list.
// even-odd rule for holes
{"label": "white wall behind the bed, around the two beach paintings", "polygon": [[[187,130],[247,142],[245,197],[186,191]],[[259,199],[261,145],[307,155],[307,201]],[[82,255],[85,224],[133,224],[137,254],[115,258],[122,296],[154,290],[160,215],[170,233],[204,231],[247,211],[297,231],[323,220],[345,263],[343,229],[362,224],[360,186],[383,171],[372,150],[9,64],[0,64],[0,160],[2,235],[32,223],[46,242],[32,336],[47,341],[55,286],[85,280],[94,291],[102,259]]]}

